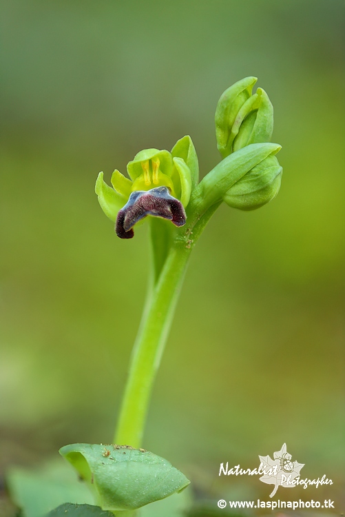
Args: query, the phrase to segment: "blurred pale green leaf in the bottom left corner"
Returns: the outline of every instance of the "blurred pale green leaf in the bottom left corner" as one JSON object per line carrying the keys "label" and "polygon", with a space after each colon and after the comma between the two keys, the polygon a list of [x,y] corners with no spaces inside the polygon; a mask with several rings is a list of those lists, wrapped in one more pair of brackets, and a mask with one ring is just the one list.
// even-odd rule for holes
{"label": "blurred pale green leaf in the bottom left corner", "polygon": [[22,509],[23,517],[43,517],[66,501],[95,503],[87,485],[78,480],[61,458],[54,459],[41,469],[12,467],[6,480],[10,496]]}

